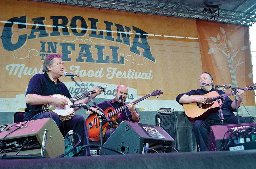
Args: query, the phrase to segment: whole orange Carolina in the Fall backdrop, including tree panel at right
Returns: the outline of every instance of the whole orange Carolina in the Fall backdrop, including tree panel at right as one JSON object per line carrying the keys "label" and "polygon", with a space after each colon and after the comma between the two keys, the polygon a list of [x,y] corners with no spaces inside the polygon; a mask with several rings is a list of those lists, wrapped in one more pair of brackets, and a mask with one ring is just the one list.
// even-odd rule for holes
{"label": "whole orange Carolina in the Fall backdrop, including tree panel at right", "polygon": [[[113,99],[119,84],[128,87],[128,102],[161,89],[161,97],[135,105],[140,112],[182,111],[175,98],[198,89],[202,71],[216,83],[253,84],[248,27],[25,0],[2,0],[0,9],[0,112],[26,107],[28,82],[52,53],[63,55],[65,71],[86,90],[106,83],[98,103]],[[232,63],[215,46],[225,38],[229,55],[237,52]],[[70,77],[60,80],[72,96],[81,94]],[[244,103],[255,109],[253,95]]]}

